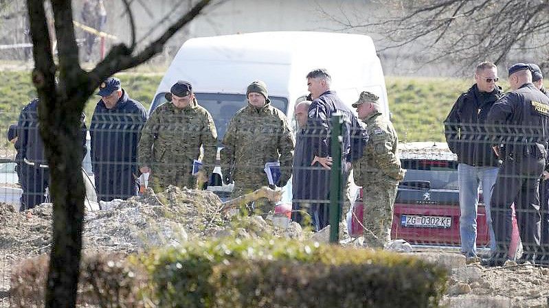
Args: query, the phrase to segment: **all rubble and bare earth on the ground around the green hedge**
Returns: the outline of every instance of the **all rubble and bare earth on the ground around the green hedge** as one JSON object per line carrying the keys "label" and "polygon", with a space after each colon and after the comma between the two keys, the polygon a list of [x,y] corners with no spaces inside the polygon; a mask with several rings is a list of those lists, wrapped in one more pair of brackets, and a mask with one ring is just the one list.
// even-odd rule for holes
{"label": "all rubble and bare earth on the ground around the green hedge", "polygon": [[[84,250],[130,253],[153,246],[227,235],[328,242],[330,233],[329,228],[311,233],[295,222],[282,228],[260,215],[237,215],[228,219],[222,211],[223,202],[210,191],[169,187],[162,193],[149,190],[143,196],[102,202],[101,205],[102,210],[85,215]],[[9,276],[10,265],[16,261],[49,251],[51,222],[52,204],[16,212],[10,204],[0,203],[0,271],[3,276]],[[341,230],[344,226],[340,226]],[[344,244],[362,246],[359,239],[347,239]],[[388,249],[407,252],[409,247],[404,241],[394,241]],[[445,264],[449,269],[451,276],[443,300],[448,307],[548,307],[549,268],[533,265],[483,268],[478,263],[466,265],[460,254],[414,254]],[[463,260],[457,260],[459,258]],[[451,264],[445,259],[451,260]],[[9,279],[0,283],[9,283]],[[0,285],[0,293],[8,288],[8,285]],[[0,296],[0,306],[3,300],[6,297]]]}

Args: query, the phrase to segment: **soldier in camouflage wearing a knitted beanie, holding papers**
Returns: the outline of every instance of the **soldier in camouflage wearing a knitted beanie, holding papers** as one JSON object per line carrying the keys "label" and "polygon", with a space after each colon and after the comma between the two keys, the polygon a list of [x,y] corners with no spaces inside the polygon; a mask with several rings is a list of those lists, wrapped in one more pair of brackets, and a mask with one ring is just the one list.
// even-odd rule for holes
{"label": "soldier in camouflage wearing a knitted beanie, holding papers", "polygon": [[[238,110],[229,122],[221,150],[225,183],[234,180],[233,197],[269,185],[265,163],[280,161],[278,187],[286,185],[292,172],[295,141],[287,117],[271,106],[265,82],[252,82],[246,95],[248,106]],[[261,200],[255,207],[269,211],[271,205]]]}

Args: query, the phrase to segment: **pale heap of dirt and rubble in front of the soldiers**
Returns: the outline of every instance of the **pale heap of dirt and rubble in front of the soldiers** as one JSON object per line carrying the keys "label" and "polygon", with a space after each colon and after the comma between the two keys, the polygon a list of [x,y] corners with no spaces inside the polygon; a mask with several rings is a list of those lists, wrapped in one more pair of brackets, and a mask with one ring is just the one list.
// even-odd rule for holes
{"label": "pale heap of dirt and rubble in front of the soldiers", "polygon": [[[152,190],[128,200],[102,202],[102,210],[85,215],[84,249],[135,252],[153,246],[176,245],[188,239],[208,237],[302,238],[301,227],[292,223],[278,228],[260,216],[221,215],[223,204],[210,191],[169,187]],[[21,257],[48,252],[52,238],[52,204],[15,212],[0,204],[0,250]]]}

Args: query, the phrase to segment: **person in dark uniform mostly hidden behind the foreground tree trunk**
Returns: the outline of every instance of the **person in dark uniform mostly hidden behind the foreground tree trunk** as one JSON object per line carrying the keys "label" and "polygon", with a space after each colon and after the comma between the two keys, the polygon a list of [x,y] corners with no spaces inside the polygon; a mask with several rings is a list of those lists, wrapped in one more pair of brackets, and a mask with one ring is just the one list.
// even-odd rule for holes
{"label": "person in dark uniform mostly hidden behind the foreground tree trunk", "polygon": [[[36,204],[45,202],[45,189],[49,187],[49,168],[44,156],[44,144],[38,126],[38,99],[33,99],[19,114],[17,122],[16,162],[21,195],[20,211],[32,209]],[[82,113],[82,147],[86,154],[86,125]],[[84,156],[82,156],[84,158]]]}

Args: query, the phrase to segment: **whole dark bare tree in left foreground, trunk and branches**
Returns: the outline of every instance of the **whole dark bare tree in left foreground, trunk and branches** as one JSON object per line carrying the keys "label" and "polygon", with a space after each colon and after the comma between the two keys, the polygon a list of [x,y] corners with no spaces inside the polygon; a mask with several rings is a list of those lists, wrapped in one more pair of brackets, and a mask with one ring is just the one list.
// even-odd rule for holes
{"label": "whole dark bare tree in left foreground, trunk and branches", "polygon": [[[2,3],[0,0],[0,3]],[[75,307],[85,187],[82,180],[82,132],[80,115],[85,102],[100,82],[118,71],[135,67],[158,54],[181,27],[201,14],[214,0],[193,1],[194,5],[167,27],[166,31],[141,50],[135,40],[135,19],[131,0],[122,0],[131,23],[131,43],[115,45],[91,71],[78,62],[71,0],[52,0],[58,59],[54,61],[46,18],[45,0],[27,0],[35,67],[32,82],[38,91],[38,121],[51,174],[50,192],[54,202],[53,243],[47,279],[46,307]],[[183,2],[177,1],[172,12]],[[218,1],[219,2],[219,1]],[[187,6],[185,6],[187,7]],[[56,76],[58,82],[56,82]]]}

